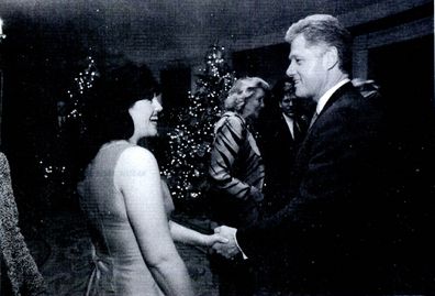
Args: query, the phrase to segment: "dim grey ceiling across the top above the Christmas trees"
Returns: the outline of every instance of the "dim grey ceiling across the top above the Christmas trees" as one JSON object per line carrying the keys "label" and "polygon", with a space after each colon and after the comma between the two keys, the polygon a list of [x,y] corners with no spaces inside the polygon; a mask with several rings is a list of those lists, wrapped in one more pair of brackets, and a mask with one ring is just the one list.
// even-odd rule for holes
{"label": "dim grey ceiling across the top above the Christmas trees", "polygon": [[241,50],[260,44],[261,37],[263,43],[281,42],[289,24],[306,14],[344,15],[368,6],[376,10],[379,2],[413,1],[2,0],[0,17],[7,34],[19,13],[40,30],[76,33],[89,47],[98,43],[155,64],[194,58],[213,43]]}

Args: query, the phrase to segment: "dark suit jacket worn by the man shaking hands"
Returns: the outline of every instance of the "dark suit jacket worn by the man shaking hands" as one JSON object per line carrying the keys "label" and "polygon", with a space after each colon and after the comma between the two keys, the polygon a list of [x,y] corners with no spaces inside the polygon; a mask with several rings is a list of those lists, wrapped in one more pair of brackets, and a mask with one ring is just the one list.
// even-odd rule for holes
{"label": "dark suit jacket worn by the man shaking hands", "polygon": [[376,100],[342,86],[301,145],[286,207],[237,231],[250,260],[275,264],[279,289],[347,294],[384,283],[393,210],[382,194],[382,118]]}

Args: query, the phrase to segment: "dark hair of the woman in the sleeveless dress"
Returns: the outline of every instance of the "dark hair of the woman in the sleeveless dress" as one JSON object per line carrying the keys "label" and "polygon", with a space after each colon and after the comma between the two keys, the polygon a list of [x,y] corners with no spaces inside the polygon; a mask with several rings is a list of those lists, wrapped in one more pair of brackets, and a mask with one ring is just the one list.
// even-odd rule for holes
{"label": "dark hair of the woman in the sleeveless dress", "polygon": [[83,165],[94,157],[102,144],[132,136],[134,125],[129,109],[136,101],[152,100],[159,94],[159,85],[146,66],[129,63],[100,73],[83,112]]}

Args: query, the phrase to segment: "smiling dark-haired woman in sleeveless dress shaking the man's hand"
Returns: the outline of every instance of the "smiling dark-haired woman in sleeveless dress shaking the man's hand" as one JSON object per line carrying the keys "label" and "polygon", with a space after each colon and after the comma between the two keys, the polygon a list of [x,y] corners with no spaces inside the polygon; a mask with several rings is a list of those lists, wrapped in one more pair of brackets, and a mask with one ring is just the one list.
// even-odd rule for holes
{"label": "smiling dark-haired woman in sleeveless dress shaking the man's hand", "polygon": [[97,153],[78,186],[93,248],[87,295],[193,295],[172,237],[208,246],[225,240],[168,221],[157,162],[137,145],[157,135],[157,84],[147,68],[127,64],[94,89],[87,144]]}

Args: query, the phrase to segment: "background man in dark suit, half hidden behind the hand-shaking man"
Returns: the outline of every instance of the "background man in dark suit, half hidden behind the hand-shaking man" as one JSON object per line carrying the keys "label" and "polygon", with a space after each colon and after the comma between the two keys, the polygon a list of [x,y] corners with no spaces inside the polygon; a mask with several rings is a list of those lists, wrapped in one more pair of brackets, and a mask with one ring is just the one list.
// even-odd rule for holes
{"label": "background man in dark suit, half hidden behind the hand-shaking man", "polygon": [[258,127],[258,144],[266,167],[263,207],[266,212],[275,212],[287,202],[295,155],[313,111],[312,105],[295,97],[294,84],[288,76],[279,79],[271,92],[268,111]]}

